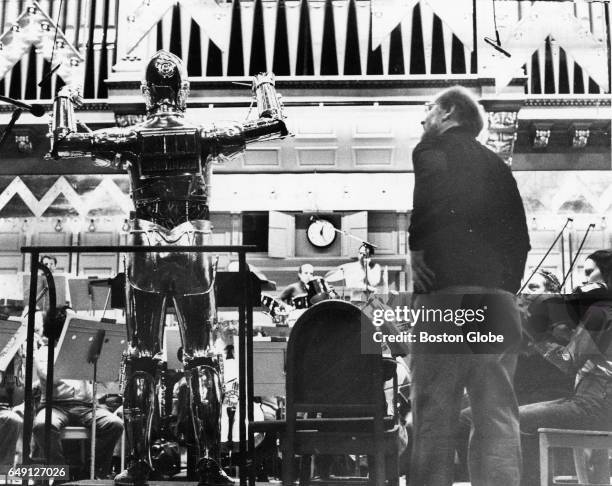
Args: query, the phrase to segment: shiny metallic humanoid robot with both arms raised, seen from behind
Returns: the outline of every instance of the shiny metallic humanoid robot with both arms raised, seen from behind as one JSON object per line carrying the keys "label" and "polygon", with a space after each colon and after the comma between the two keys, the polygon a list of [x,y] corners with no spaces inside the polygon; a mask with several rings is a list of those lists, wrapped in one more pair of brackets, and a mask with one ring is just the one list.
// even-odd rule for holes
{"label": "shiny metallic humanoid robot with both arms raised, seen from behind", "polygon": [[[127,128],[78,132],[68,90],[54,101],[51,156],[93,156],[127,170],[135,212],[132,245],[209,244],[212,162],[238,155],[247,143],[287,135],[272,75],[253,80],[259,118],[229,127],[202,127],[184,118],[189,93],[182,61],[158,51],[146,67],[147,117]],[[200,485],[231,484],[219,466],[222,385],[213,349],[215,264],[206,253],[133,253],[127,268],[124,421],[128,468],[118,485],[145,484],[151,472],[150,431],[155,407],[166,305],[176,309],[190,414],[197,438]]]}

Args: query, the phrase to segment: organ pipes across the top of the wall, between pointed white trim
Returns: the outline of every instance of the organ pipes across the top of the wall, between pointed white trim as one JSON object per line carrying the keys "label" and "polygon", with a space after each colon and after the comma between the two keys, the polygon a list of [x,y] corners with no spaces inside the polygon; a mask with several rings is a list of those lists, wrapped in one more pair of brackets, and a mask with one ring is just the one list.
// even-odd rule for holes
{"label": "organ pipes across the top of the wall, between pointed white trim", "polygon": [[[243,76],[265,70],[272,70],[277,76],[314,77],[476,72],[470,46],[459,40],[443,21],[447,20],[442,18],[443,14],[438,12],[442,17],[438,16],[425,0],[415,0],[414,7],[374,50],[370,30],[376,14],[372,9],[376,7],[369,0],[229,0],[227,3],[231,4],[227,9],[229,41],[224,52],[181,2],[168,8],[141,44],[146,46],[148,54],[161,48],[176,53],[193,77]],[[467,5],[470,3],[468,0]],[[492,51],[482,42],[482,37],[491,34],[493,18],[489,0],[475,3],[477,50],[479,66],[482,66],[482,58]],[[538,2],[496,2],[502,39],[534,3]],[[606,14],[609,17],[609,12],[604,2],[564,3],[595,38],[607,39]],[[3,31],[10,29],[26,4],[23,0],[4,0],[0,4]],[[125,12],[135,9],[139,2],[126,1],[120,5],[119,0],[41,0],[39,5],[54,22],[59,20],[68,41],[85,58],[84,97],[106,98],[104,80],[123,47],[117,40],[130,37]],[[448,8],[459,7],[449,5]],[[469,15],[463,14],[469,17],[471,7]],[[32,48],[0,80],[0,94],[17,99],[49,100],[62,83],[57,76],[52,76],[51,83],[43,88],[37,86],[49,69],[49,62]],[[580,63],[550,36],[522,70],[529,78],[526,92],[530,94],[604,92]]]}

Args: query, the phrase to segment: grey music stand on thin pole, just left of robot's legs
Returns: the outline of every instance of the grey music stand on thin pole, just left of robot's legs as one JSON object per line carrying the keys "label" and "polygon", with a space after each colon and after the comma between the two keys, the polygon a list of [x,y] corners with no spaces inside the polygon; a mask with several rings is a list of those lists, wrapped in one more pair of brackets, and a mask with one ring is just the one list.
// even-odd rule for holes
{"label": "grey music stand on thin pole, just left of robot's legs", "polygon": [[90,479],[95,478],[97,383],[115,381],[121,373],[127,347],[125,326],[80,319],[66,319],[56,345],[54,375],[93,383]]}

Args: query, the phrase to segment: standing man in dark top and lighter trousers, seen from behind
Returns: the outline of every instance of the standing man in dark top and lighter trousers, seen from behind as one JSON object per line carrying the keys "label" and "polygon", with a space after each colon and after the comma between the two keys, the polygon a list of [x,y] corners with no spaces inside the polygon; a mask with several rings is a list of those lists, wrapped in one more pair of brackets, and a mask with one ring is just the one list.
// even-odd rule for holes
{"label": "standing man in dark top and lighter trousers, seen from behind", "polygon": [[[452,434],[467,390],[472,485],[518,485],[512,377],[521,332],[514,293],[530,248],[523,203],[509,167],[476,140],[483,120],[467,90],[443,91],[422,125],[409,229],[414,307],[441,312],[413,327],[410,484],[452,484]],[[468,339],[489,332],[502,342]]]}

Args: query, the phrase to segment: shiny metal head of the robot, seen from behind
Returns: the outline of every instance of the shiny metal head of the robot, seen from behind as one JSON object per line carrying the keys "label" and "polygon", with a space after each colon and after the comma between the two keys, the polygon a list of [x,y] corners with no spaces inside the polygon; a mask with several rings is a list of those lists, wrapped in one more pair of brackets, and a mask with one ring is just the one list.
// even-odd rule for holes
{"label": "shiny metal head of the robot, seen from behind", "polygon": [[148,113],[155,113],[162,106],[184,112],[189,81],[183,61],[168,51],[157,51],[147,64],[141,89]]}

